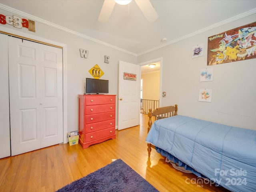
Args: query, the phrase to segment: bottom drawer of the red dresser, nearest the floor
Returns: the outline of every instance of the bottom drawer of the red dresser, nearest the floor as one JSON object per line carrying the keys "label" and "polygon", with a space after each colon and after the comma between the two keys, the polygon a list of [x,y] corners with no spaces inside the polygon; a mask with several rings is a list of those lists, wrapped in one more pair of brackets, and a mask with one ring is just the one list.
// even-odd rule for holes
{"label": "bottom drawer of the red dresser, nearest the floor", "polygon": [[85,135],[85,141],[86,142],[91,142],[100,138],[104,138],[110,135],[116,134],[115,127],[99,130],[99,131],[94,131],[91,133],[86,133]]}

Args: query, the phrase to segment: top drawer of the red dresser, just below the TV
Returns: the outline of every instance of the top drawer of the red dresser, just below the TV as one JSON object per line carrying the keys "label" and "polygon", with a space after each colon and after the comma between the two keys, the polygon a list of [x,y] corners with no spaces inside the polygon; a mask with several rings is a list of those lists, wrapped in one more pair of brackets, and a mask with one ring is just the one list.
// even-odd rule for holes
{"label": "top drawer of the red dresser, just below the TV", "polygon": [[99,104],[115,104],[116,96],[102,95],[102,96],[87,96],[86,105],[99,105]]}

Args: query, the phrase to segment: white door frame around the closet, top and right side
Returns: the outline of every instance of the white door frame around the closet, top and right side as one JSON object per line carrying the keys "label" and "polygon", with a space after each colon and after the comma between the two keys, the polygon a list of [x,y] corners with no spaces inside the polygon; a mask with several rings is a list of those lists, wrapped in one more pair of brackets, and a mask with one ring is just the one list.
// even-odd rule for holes
{"label": "white door frame around the closet, top and right side", "polygon": [[20,32],[17,30],[13,30],[10,28],[5,28],[0,26],[0,32],[3,34],[7,34],[7,35],[14,35],[14,36],[20,36],[20,38],[24,37],[24,38],[28,38],[31,41],[35,41],[35,42],[41,42],[42,44],[46,44],[46,45],[52,45],[52,46],[57,46],[57,47],[61,47],[62,48],[62,86],[63,86],[63,143],[67,143],[68,142],[68,94],[67,94],[67,45],[60,43],[60,42],[56,42],[56,41],[52,41],[52,40],[48,40],[45,38],[41,38],[35,35],[31,35],[31,34],[27,34],[24,32]]}

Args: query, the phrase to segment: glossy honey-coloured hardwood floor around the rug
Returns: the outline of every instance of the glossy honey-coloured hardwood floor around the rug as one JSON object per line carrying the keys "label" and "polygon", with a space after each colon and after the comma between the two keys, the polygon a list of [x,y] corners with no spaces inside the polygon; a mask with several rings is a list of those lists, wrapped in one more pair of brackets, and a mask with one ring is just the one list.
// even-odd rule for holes
{"label": "glossy honey-coloured hardwood floor around the rug", "polygon": [[[116,139],[82,149],[60,144],[0,159],[0,191],[54,192],[70,182],[122,159],[160,192],[227,192],[214,184],[196,184],[194,174],[180,172],[154,149],[148,159],[147,115],[140,126],[116,130]],[[193,182],[192,182],[193,181]]]}

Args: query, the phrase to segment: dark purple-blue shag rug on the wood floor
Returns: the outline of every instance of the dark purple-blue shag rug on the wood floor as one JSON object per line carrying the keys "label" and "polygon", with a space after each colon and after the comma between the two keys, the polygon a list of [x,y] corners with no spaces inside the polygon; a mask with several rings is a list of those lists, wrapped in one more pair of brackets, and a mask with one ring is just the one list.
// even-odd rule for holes
{"label": "dark purple-blue shag rug on the wood floor", "polygon": [[121,159],[78,179],[57,192],[158,192]]}

